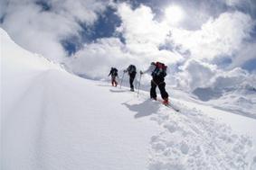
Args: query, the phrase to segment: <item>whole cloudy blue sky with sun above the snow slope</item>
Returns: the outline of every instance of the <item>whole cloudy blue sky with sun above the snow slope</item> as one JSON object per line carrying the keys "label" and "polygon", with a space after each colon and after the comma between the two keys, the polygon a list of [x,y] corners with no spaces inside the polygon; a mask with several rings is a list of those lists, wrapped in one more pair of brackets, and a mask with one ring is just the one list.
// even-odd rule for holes
{"label": "whole cloudy blue sky with sun above the snow slope", "polygon": [[[1,0],[0,22],[25,49],[93,77],[84,67],[152,60],[181,77],[256,72],[254,0]],[[180,84],[207,84],[196,78]]]}

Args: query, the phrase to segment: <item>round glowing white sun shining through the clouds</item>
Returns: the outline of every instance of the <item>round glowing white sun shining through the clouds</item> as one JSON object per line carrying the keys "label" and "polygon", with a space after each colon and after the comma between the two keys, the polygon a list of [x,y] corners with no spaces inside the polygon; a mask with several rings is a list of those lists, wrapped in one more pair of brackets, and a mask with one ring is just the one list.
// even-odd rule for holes
{"label": "round glowing white sun shining through the clouds", "polygon": [[177,5],[171,5],[166,8],[165,11],[166,22],[176,25],[181,22],[184,18],[184,12],[181,7]]}

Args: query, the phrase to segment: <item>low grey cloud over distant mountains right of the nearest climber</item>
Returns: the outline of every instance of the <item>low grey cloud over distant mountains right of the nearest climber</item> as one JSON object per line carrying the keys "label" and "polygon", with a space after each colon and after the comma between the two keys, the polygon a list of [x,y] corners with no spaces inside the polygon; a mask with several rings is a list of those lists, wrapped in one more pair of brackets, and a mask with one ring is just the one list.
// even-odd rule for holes
{"label": "low grey cloud over distant mountains right of the nearest climber", "polygon": [[215,91],[253,88],[256,75],[249,74],[241,67],[231,70],[218,69],[215,65],[189,59],[175,74],[177,86],[187,92],[197,88],[211,88]]}

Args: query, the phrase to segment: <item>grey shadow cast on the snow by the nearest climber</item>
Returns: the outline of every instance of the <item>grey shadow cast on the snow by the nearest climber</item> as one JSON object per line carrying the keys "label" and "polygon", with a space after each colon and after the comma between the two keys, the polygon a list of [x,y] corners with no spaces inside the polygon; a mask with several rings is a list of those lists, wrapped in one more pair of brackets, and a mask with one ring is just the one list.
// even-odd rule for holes
{"label": "grey shadow cast on the snow by the nearest climber", "polygon": [[153,103],[150,99],[138,104],[122,103],[127,106],[132,112],[137,112],[134,118],[141,118],[156,113],[159,109],[159,104]]}

